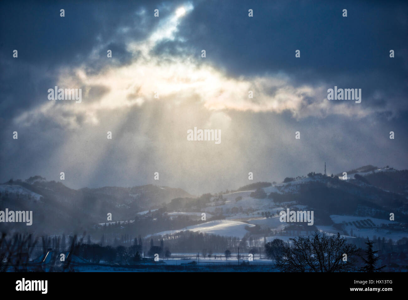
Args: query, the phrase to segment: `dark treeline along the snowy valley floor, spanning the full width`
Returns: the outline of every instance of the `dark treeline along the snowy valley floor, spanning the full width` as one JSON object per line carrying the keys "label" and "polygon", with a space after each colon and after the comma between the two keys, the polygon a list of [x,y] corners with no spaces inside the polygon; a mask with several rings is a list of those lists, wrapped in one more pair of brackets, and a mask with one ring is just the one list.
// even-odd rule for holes
{"label": "dark treeline along the snowy valley floor, spanning the full width", "polygon": [[[10,271],[10,267],[16,268],[24,264],[41,265],[44,255],[53,255],[56,263],[60,253],[65,253],[69,258],[63,266],[66,268],[70,263],[78,261],[90,265],[154,263],[153,257],[156,254],[161,260],[180,258],[182,253],[190,254],[181,256],[182,258],[194,259],[191,254],[197,254],[196,259],[200,257],[215,260],[216,257],[227,260],[231,257],[237,258],[238,247],[242,261],[248,259],[248,254],[253,254],[254,258],[269,258],[272,260],[271,266],[281,271],[395,271],[408,268],[405,256],[408,238],[402,238],[397,243],[381,238],[346,240],[339,234],[328,236],[315,232],[313,236],[299,236],[291,238],[290,241],[286,243],[275,239],[265,243],[265,240],[252,236],[239,240],[236,237],[200,232],[180,232],[173,236],[156,236],[150,239],[142,239],[139,236],[133,238],[128,246],[114,247],[91,243],[91,237],[85,233],[80,237],[63,235],[40,238],[21,234],[7,237],[3,234],[0,239],[0,271]],[[344,254],[347,254],[346,261]],[[318,260],[317,257],[323,260]],[[330,259],[330,263],[325,262],[326,259]]]}

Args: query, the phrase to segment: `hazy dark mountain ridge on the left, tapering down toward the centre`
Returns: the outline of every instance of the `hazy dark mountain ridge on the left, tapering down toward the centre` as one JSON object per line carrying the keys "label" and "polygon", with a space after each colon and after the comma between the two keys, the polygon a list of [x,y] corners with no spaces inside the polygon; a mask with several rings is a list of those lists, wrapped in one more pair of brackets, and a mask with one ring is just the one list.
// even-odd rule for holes
{"label": "hazy dark mountain ridge on the left, tapering down toward the centre", "polygon": [[61,182],[46,181],[41,176],[0,184],[0,210],[6,207],[9,210],[32,210],[37,220],[42,220],[44,226],[39,227],[44,230],[47,224],[56,224],[61,230],[86,228],[92,223],[106,222],[107,213],[111,213],[115,220],[129,220],[137,212],[160,207],[177,197],[192,195],[180,188],[152,184],[74,190]]}

